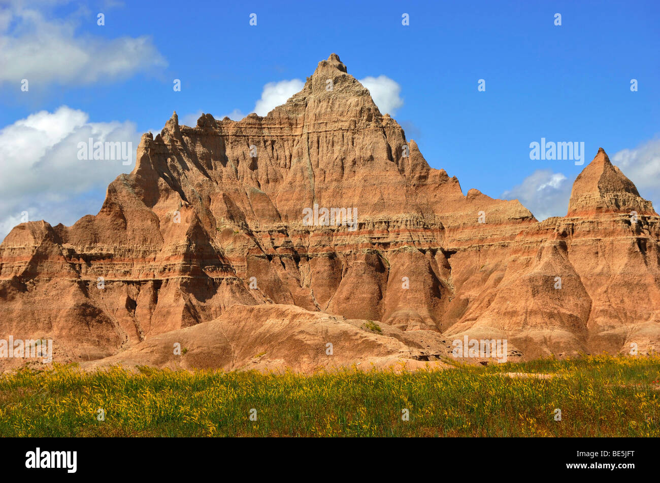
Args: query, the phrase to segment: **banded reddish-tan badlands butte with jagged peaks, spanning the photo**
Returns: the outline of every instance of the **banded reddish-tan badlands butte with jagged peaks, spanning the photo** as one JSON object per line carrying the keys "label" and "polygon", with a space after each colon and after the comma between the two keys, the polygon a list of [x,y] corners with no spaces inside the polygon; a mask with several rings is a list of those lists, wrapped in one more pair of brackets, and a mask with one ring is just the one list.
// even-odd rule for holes
{"label": "banded reddish-tan badlands butte with jagged peaks, spanning the photo", "polygon": [[[356,225],[304,223],[315,205]],[[644,354],[660,345],[659,241],[603,149],[565,217],[464,195],[333,54],[265,117],[175,113],[144,134],[97,215],[16,226],[0,339],[53,339],[55,362],[88,367],[444,366],[465,335],[506,339],[510,360]]]}

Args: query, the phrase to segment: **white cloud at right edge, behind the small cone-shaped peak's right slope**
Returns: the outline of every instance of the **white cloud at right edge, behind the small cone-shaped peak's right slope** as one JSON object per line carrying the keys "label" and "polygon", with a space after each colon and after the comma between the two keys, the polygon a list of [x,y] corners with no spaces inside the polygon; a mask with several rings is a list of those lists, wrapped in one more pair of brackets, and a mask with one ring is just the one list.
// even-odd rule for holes
{"label": "white cloud at right edge, behind the small cone-shaped peak's right slope", "polygon": [[657,210],[656,202],[660,202],[660,139],[649,140],[632,150],[620,150],[610,159]]}

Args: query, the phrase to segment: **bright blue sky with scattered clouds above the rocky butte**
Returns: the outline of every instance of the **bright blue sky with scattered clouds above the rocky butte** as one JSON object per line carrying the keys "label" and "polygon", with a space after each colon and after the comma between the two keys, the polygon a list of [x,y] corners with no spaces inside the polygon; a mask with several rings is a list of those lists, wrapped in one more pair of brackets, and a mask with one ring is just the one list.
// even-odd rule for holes
{"label": "bright blue sky with scattered clouds above the rocky butte", "polygon": [[[47,186],[44,177],[73,176],[75,164],[51,163],[50,156],[65,152],[58,143],[66,136],[82,136],[74,129],[139,139],[141,132],[160,130],[173,110],[180,119],[199,111],[248,114],[266,84],[304,80],[332,52],[356,78],[386,76],[400,88],[390,93],[403,102],[393,117],[432,167],[458,177],[463,192],[521,198],[539,218],[564,215],[582,167],[529,159],[529,144],[545,137],[584,142],[586,163],[602,146],[615,163],[617,155],[643,196],[660,203],[657,1],[0,5],[0,143],[17,143],[34,129],[19,121],[40,111],[46,111],[44,123],[32,124],[73,126],[36,152],[36,161],[5,148],[3,171],[20,172],[11,186],[0,182],[6,227],[25,205],[34,213],[30,219],[45,217],[53,225],[95,214],[107,184],[131,171],[132,165],[116,163],[102,173],[95,169],[88,182],[71,181],[64,192]],[[98,13],[104,26],[97,25]],[[249,25],[250,13],[257,14],[257,26]],[[409,26],[401,24],[403,13]],[[556,13],[561,26],[554,25]],[[28,92],[20,91],[23,78]],[[172,89],[174,78],[182,81],[181,92]],[[485,92],[477,90],[481,78]],[[633,78],[637,92],[630,90]],[[63,106],[71,111],[56,117]],[[73,121],[81,116],[76,113],[86,120]],[[24,144],[30,135],[36,134],[27,132]],[[30,193],[30,180],[38,177],[38,193],[48,192],[48,202]],[[12,188],[18,185],[20,192]]]}

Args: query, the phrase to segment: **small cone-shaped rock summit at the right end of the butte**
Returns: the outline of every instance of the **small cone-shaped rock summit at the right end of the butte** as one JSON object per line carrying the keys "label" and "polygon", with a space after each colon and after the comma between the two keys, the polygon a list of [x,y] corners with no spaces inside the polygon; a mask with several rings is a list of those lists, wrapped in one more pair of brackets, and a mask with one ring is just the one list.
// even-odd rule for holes
{"label": "small cone-shaped rock summit at the right end of the butte", "polygon": [[568,203],[568,215],[594,212],[655,214],[651,202],[640,196],[636,186],[614,166],[603,148],[579,173]]}

